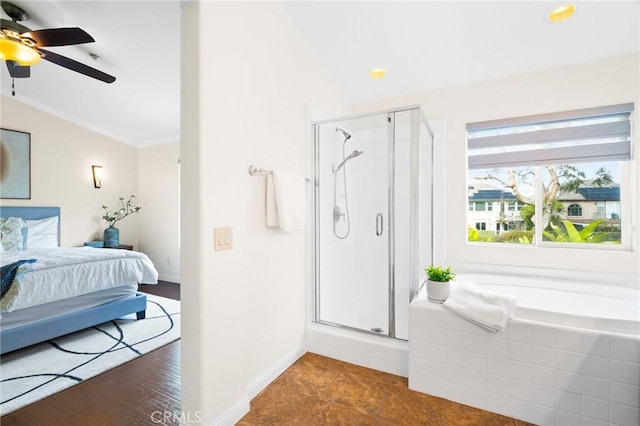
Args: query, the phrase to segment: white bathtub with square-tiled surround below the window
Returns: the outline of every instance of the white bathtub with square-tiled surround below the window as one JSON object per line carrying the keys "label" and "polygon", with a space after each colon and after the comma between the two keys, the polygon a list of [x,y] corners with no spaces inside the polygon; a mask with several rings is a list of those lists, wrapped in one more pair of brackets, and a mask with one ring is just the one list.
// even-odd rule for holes
{"label": "white bathtub with square-tiled surround below the window", "polygon": [[456,281],[516,296],[515,316],[493,333],[419,294],[411,389],[539,425],[640,424],[637,288],[473,273]]}

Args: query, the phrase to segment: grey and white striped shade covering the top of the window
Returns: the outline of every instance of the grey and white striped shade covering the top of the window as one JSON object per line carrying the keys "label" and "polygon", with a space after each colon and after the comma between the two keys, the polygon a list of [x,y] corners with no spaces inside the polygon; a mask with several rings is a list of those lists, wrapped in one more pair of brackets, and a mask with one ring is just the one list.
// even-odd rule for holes
{"label": "grey and white striped shade covering the top of the window", "polygon": [[633,103],[467,124],[469,169],[631,158]]}

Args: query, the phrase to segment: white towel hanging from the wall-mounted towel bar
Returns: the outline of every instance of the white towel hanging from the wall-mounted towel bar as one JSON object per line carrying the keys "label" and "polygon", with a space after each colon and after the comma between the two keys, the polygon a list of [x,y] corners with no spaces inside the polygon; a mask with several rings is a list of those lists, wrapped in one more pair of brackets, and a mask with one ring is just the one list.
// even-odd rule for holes
{"label": "white towel hanging from the wall-mounted towel bar", "polygon": [[301,231],[306,220],[306,185],[304,176],[280,170],[267,176],[266,223],[282,231]]}

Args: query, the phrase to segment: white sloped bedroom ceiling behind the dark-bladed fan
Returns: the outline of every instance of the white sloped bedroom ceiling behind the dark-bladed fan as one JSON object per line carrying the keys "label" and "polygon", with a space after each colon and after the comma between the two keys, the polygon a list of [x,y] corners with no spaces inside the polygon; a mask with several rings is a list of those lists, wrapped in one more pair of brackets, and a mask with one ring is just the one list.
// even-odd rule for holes
{"label": "white sloped bedroom ceiling behind the dark-bladed fan", "polygon": [[[95,43],[47,49],[116,77],[107,84],[42,60],[30,78],[15,80],[15,99],[133,146],[180,140],[177,1],[10,1],[31,15],[22,24],[32,30],[91,34]],[[0,73],[2,94],[11,96],[4,64]]]}

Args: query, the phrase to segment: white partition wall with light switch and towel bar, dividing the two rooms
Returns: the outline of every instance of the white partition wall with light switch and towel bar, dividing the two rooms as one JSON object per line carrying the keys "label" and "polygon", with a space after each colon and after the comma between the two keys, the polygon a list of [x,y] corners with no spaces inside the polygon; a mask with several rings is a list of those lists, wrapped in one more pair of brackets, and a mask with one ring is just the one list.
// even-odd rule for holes
{"label": "white partition wall with light switch and towel bar, dividing the two rooms", "polygon": [[232,423],[306,325],[305,235],[265,228],[248,167],[304,174],[306,105],[348,107],[280,4],[185,3],[182,27],[182,406]]}

